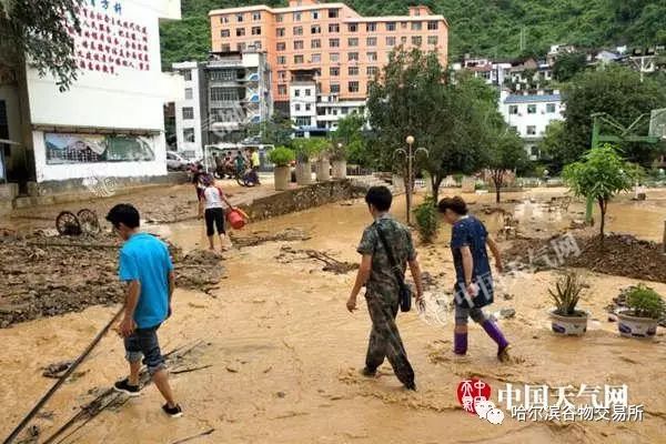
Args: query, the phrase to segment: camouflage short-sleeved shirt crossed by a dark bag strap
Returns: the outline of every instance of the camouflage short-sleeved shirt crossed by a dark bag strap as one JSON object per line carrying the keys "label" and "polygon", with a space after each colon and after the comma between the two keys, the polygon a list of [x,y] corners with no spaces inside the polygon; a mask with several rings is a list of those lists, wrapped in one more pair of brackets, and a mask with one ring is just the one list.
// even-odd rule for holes
{"label": "camouflage short-sleeved shirt crossed by a dark bag strap", "polygon": [[389,246],[393,250],[395,261],[403,272],[406,270],[407,262],[416,258],[416,251],[410,230],[389,214],[375,220],[363,232],[356,251],[363,255],[372,255],[372,270],[366,284],[366,293],[381,295],[385,301],[395,302],[400,287],[377,230],[382,230]]}

